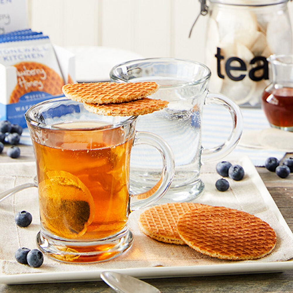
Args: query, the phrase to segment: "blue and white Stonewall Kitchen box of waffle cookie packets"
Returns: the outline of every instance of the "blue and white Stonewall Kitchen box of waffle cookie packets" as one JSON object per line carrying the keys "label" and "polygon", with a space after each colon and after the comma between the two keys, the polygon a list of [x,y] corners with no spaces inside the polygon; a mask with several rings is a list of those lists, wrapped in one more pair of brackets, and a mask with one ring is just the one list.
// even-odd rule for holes
{"label": "blue and white Stonewall Kitchen box of waffle cookie packets", "polygon": [[[1,47],[0,38],[0,120],[9,120],[27,127],[24,114],[28,108],[44,100],[62,96],[62,85],[75,82],[74,54],[52,45],[56,58],[48,61],[47,56],[46,65],[42,61],[43,55],[49,51],[45,37],[30,36],[30,40],[37,38],[41,42],[38,46],[30,47],[30,50],[25,43],[29,41],[27,39],[19,42],[21,47],[11,49],[11,42],[18,41],[20,37],[10,37],[11,40],[6,38],[4,47]],[[21,38],[27,37],[22,34]],[[4,65],[6,61],[13,62],[14,66]]]}

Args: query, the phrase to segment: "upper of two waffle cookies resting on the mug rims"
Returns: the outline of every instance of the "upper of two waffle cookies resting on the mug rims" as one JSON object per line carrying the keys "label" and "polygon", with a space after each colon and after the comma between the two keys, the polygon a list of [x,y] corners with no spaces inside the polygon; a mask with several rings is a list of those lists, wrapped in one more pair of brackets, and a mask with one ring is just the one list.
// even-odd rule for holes
{"label": "upper of two waffle cookies resting on the mug rims", "polygon": [[64,95],[77,102],[89,104],[123,103],[145,98],[159,89],[153,81],[146,82],[90,82],[66,84]]}

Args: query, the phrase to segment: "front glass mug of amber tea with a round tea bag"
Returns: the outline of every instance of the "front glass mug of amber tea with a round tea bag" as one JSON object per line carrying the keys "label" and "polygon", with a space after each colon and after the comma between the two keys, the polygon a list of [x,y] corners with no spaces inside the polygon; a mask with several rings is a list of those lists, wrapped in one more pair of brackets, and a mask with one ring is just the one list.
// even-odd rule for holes
{"label": "front glass mug of amber tea with a round tea bag", "polygon": [[[85,263],[120,255],[133,240],[130,212],[168,190],[173,153],[156,134],[137,132],[137,118],[96,115],[67,98],[46,100],[25,113],[37,165],[37,243],[48,256]],[[139,144],[158,149],[164,166],[151,191],[132,195],[130,153]]]}

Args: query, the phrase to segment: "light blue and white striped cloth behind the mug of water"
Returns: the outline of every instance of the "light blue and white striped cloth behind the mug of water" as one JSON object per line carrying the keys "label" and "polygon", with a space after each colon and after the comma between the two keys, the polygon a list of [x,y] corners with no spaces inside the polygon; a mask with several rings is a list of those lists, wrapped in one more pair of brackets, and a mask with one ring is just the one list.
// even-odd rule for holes
{"label": "light blue and white striped cloth behind the mug of water", "polygon": [[[243,131],[263,130],[270,128],[262,109],[241,108],[243,115]],[[204,148],[215,147],[223,142],[231,132],[232,121],[229,112],[216,105],[205,105],[202,117],[202,145]],[[232,151],[235,156],[248,156],[254,166],[264,166],[268,157],[282,159],[284,151],[270,150],[268,148],[256,149],[237,145]]]}

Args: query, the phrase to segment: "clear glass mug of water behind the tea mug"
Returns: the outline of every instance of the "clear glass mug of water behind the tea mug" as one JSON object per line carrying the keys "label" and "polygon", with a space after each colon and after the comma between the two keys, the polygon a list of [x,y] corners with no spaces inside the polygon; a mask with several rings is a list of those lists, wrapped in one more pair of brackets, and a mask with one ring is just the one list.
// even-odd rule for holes
{"label": "clear glass mug of water behind the tea mug", "polygon": [[[137,123],[137,130],[158,134],[173,150],[175,175],[160,202],[197,198],[204,189],[200,180],[202,161],[226,156],[241,137],[243,119],[239,107],[223,95],[209,93],[210,76],[211,71],[204,64],[173,58],[133,60],[118,64],[110,71],[111,81],[115,82],[156,81],[160,87],[151,97],[169,101],[167,108],[143,115]],[[204,104],[210,103],[224,106],[231,114],[233,126],[223,144],[202,150],[202,111]],[[221,123],[220,117],[215,117],[214,123]],[[141,153],[148,160],[142,160]],[[147,146],[133,151],[130,166],[133,192],[147,190],[160,178],[160,156]]]}

